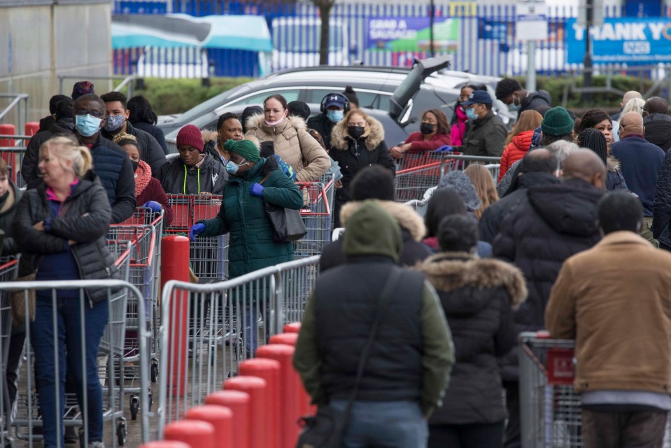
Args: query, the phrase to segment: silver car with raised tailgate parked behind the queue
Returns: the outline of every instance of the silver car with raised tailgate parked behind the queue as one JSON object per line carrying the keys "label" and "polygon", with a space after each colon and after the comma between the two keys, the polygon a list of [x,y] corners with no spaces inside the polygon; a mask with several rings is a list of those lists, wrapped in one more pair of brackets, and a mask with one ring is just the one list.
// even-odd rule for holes
{"label": "silver car with raised tailgate parked behind the queue", "polygon": [[282,94],[288,102],[299,99],[319,104],[327,93],[342,92],[346,85],[352,85],[360,106],[389,113],[409,134],[419,130],[421,113],[426,109],[442,109],[448,118],[452,116],[451,106],[457,101],[459,90],[425,81],[431,73],[448,66],[449,61],[449,56],[425,59],[404,72],[324,68],[318,73],[278,73],[227,90],[179,116],[163,116],[158,125],[170,134],[189,123],[211,123],[233,106],[259,104],[271,94]]}

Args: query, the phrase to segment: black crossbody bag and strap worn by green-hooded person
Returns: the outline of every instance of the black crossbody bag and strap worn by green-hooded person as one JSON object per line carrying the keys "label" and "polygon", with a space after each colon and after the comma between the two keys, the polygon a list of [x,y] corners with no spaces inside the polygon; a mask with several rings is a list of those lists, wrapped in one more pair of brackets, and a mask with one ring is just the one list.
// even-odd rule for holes
{"label": "black crossbody bag and strap worn by green-hooded person", "polygon": [[368,362],[370,349],[380,324],[383,307],[389,302],[386,299],[396,287],[397,281],[398,276],[390,275],[386,281],[386,286],[379,297],[378,311],[375,315],[375,320],[373,321],[366,345],[361,353],[356,380],[354,381],[354,389],[347,402],[345,412],[340,412],[328,405],[322,405],[317,408],[316,415],[302,416],[298,423],[303,429],[298,436],[296,448],[340,448],[341,439],[347,427],[354,400],[359,391],[361,377],[363,376],[363,371]]}

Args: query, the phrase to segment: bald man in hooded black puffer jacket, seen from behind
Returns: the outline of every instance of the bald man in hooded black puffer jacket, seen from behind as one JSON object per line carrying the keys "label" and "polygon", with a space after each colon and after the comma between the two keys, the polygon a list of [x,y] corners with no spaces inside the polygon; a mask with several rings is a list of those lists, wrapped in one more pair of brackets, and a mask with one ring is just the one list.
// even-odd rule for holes
{"label": "bald man in hooded black puffer jacket, seen from behind", "polygon": [[[529,297],[515,312],[518,332],[542,330],[550,290],[564,260],[600,240],[596,206],[606,188],[606,166],[590,150],[577,150],[564,162],[562,183],[528,188],[506,216],[493,242],[494,256],[524,274]],[[501,376],[507,390],[509,421],[505,447],[520,446],[518,360],[504,357]]]}

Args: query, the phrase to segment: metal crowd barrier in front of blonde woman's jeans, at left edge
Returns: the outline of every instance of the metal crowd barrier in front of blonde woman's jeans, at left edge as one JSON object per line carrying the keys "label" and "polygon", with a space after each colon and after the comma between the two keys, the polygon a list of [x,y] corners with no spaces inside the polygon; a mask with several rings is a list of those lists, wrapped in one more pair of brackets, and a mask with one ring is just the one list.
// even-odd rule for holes
{"label": "metal crowd barrier in front of blonde woman's jeans, at left edge", "polygon": [[[0,267],[0,271],[4,270],[6,274],[6,265]],[[107,446],[116,447],[125,443],[127,428],[126,420],[123,412],[123,399],[124,399],[124,377],[122,369],[121,358],[122,358],[122,348],[123,348],[123,338],[125,334],[125,323],[126,323],[126,300],[128,295],[135,295],[138,297],[140,291],[137,290],[133,285],[120,280],[80,280],[80,281],[22,281],[22,282],[12,282],[6,281],[0,283],[0,334],[8,335],[12,330],[10,325],[10,306],[8,306],[8,293],[10,291],[23,291],[24,300],[27,302],[27,291],[28,290],[45,290],[48,291],[48,296],[52,301],[52,308],[56,309],[57,302],[57,291],[59,290],[77,290],[80,316],[83,318],[84,307],[90,307],[90,301],[87,299],[85,292],[90,288],[104,288],[107,291],[107,303],[108,303],[108,312],[109,320],[108,325],[104,331],[104,335],[101,339],[101,344],[98,351],[98,376],[101,383],[103,383],[103,416],[104,420],[111,422],[104,426],[104,442]],[[144,302],[138,302],[139,312],[143,314]],[[9,323],[9,324],[8,324]],[[55,313],[52,315],[52,323],[54,325],[54,330],[57,325],[57,316]],[[25,318],[24,328],[26,332],[26,344],[24,346],[24,358],[25,362],[20,367],[18,374],[20,379],[20,387],[17,391],[17,397],[15,400],[15,412],[12,412],[13,409],[10,409],[7,400],[3,400],[5,403],[4,419],[5,423],[4,428],[6,429],[5,433],[1,433],[1,442],[3,446],[7,446],[6,442],[12,442],[13,438],[10,437],[10,427],[15,429],[15,437],[20,440],[27,440],[29,446],[34,446],[36,440],[41,439],[41,435],[38,435],[39,431],[36,428],[42,426],[41,421],[41,412],[40,412],[40,403],[38,402],[38,396],[36,394],[36,382],[34,378],[34,354],[31,350],[31,325],[32,322],[28,317]],[[146,328],[139,328],[139,345],[138,351],[139,356],[143,359],[148,358],[148,343],[150,340],[150,332]],[[5,336],[6,337],[6,336]],[[70,335],[69,337],[77,337],[77,335]],[[85,339],[85,330],[82,327],[81,333],[78,335],[82,340]],[[54,339],[53,347],[55,353],[58,353],[59,347],[57,345],[57,340]],[[83,352],[85,346],[83,345]],[[84,354],[84,353],[83,353]],[[85,356],[83,356],[85,358]],[[3,378],[5,377],[6,364],[1,364]],[[82,374],[85,377],[86,366],[82,365]],[[59,366],[58,358],[55,358],[55,367],[54,375],[56,379],[56,384],[59,382],[61,367]],[[142,384],[146,384],[149,381],[148,374],[148,365],[141,364],[140,368],[140,377]],[[3,380],[4,381],[4,380]],[[0,393],[5,392],[5,388],[0,388]],[[66,394],[66,402],[59,402],[57,396],[56,399],[56,409],[57,414],[62,415],[64,418],[64,423],[66,426],[81,426],[83,431],[80,433],[81,440],[88,440],[88,430],[89,430],[89,421],[87,417],[87,390],[83,388],[83,409],[78,409],[76,399],[73,395]],[[139,402],[141,409],[148,409],[148,394],[139,393]],[[65,409],[65,414],[63,410]],[[13,418],[12,418],[13,417]],[[60,428],[57,427],[58,437],[62,437],[60,433]],[[149,413],[142,412],[141,415],[141,437],[143,442],[148,442],[149,440]],[[82,446],[86,446],[82,444]]]}

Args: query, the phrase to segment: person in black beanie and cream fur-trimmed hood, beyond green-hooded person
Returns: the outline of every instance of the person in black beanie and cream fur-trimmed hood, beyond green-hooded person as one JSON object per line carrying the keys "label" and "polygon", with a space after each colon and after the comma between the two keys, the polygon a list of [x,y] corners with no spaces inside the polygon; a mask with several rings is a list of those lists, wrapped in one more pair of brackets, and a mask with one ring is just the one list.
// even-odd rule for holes
{"label": "person in black beanie and cream fur-trimmed hood, beyond green-hooded person", "polygon": [[[351,214],[364,203],[363,201],[378,200],[401,226],[403,249],[400,265],[414,266],[432,254],[430,248],[421,242],[426,233],[423,219],[410,207],[394,201],[394,176],[388,169],[379,165],[365,167],[354,176],[350,188],[353,201],[342,209],[341,220],[344,225]],[[320,272],[345,262],[342,246],[342,238],[324,246],[319,259]]]}

